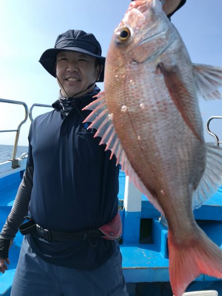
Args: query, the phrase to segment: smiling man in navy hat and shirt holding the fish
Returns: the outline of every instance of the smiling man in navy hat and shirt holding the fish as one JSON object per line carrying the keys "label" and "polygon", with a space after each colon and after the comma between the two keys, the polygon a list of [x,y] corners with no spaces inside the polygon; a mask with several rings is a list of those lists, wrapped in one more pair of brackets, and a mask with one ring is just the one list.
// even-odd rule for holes
{"label": "smiling man in navy hat and shirt holding the fish", "polygon": [[[182,2],[166,0],[174,3],[168,14]],[[83,122],[89,111],[82,109],[104,79],[100,43],[69,30],[39,62],[57,79],[59,98],[31,125],[26,172],[0,234],[0,272],[20,225],[25,236],[11,296],[127,296],[118,245],[119,168]]]}

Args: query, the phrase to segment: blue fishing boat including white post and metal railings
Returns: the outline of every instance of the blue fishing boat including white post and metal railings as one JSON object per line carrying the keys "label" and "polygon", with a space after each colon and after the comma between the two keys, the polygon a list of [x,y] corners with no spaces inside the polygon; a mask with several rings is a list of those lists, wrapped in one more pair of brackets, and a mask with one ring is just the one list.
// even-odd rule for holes
{"label": "blue fishing boat including white post and metal railings", "polygon": [[[24,102],[0,99],[2,103],[23,105],[24,120],[15,130],[0,132],[15,132],[15,143],[10,160],[0,163],[0,229],[2,228],[12,208],[18,186],[21,183],[26,168],[27,153],[15,158],[19,133],[22,124],[29,118],[32,121],[34,107],[51,107],[50,105],[34,104],[30,111]],[[209,124],[213,119],[222,116],[212,116],[207,123],[208,132],[215,138],[217,135],[210,131]],[[164,217],[150,204],[132,183],[124,172],[119,172],[119,213],[122,220],[123,232],[119,240],[123,257],[123,274],[127,291],[130,296],[172,296],[169,283],[169,259],[167,236],[168,227]],[[194,210],[198,225],[207,235],[222,248],[222,186],[199,209]],[[10,264],[4,274],[0,274],[0,295],[9,296],[23,236],[17,233],[9,252]],[[196,291],[205,290],[202,294]],[[208,291],[208,294],[206,290]],[[213,290],[213,291],[212,291]],[[196,294],[192,294],[192,292]],[[222,280],[206,275],[200,275],[186,290],[188,295],[222,296]],[[190,293],[190,294],[188,294]],[[211,294],[212,293],[212,294]],[[217,293],[217,294],[215,294]]]}

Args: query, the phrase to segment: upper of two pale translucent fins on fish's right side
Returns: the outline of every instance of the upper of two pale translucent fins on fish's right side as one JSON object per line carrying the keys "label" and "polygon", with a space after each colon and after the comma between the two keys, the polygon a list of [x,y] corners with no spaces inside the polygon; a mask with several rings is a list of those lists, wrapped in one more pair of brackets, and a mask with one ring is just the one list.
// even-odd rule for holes
{"label": "upper of two pale translucent fins on fish's right side", "polygon": [[222,67],[193,64],[195,85],[198,94],[205,100],[222,99]]}

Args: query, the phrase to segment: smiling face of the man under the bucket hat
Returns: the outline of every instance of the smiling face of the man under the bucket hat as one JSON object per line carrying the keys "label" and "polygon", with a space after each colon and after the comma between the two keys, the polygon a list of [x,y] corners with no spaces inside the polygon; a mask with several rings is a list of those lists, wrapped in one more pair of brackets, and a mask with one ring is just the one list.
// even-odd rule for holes
{"label": "smiling face of the man under the bucket hat", "polygon": [[[74,96],[74,94],[86,89],[91,83],[95,82],[99,74],[99,65],[96,66],[95,63],[95,57],[80,52],[63,50],[57,54],[57,82],[61,87],[61,93],[64,97],[67,97],[67,95],[63,87],[65,88],[67,94],[71,97]],[[94,85],[84,92],[81,92],[76,97],[85,95],[89,91],[93,90],[93,88]]]}

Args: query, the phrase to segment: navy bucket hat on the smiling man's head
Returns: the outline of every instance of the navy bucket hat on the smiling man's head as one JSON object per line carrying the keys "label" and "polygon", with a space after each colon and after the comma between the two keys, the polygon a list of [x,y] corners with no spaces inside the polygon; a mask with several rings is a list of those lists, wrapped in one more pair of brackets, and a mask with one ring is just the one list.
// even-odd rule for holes
{"label": "navy bucket hat on the smiling man's head", "polygon": [[85,33],[81,30],[69,30],[57,37],[54,48],[47,49],[43,52],[39,63],[54,77],[56,77],[56,55],[61,50],[82,52],[97,58],[98,62],[103,66],[98,82],[103,82],[106,58],[101,56],[102,48],[93,34]]}

